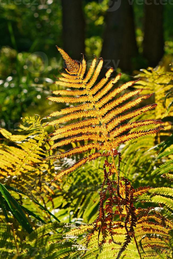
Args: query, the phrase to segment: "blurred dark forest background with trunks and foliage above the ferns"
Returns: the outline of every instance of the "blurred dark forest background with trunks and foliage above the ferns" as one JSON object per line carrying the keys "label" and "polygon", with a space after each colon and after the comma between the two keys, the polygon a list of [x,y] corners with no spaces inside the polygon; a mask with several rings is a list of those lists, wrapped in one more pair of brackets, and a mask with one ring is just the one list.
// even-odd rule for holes
{"label": "blurred dark forest background with trunks and foliage above the ferns", "polygon": [[140,68],[169,70],[172,15],[173,1],[1,0],[1,127],[55,110],[46,97],[63,69],[56,45],[88,63],[93,54],[103,57],[103,73],[113,66],[125,81]]}

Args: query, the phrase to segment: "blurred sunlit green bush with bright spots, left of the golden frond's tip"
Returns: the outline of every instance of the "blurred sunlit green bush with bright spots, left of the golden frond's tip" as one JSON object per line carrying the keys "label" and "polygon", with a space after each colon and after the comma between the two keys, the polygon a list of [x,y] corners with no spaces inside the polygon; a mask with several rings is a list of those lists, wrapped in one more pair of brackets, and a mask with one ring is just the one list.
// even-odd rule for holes
{"label": "blurred sunlit green bush with bright spots, left of the golden frond's tip", "polygon": [[[55,64],[54,60],[48,63],[47,55],[43,52],[18,53],[9,47],[1,48],[0,60],[1,127],[12,129],[14,125],[17,129],[20,118],[26,115],[28,108],[28,115],[34,115],[37,107],[44,116],[42,102],[48,95],[48,84],[53,82],[45,71],[49,66],[53,77],[56,70],[52,67],[61,69],[60,64]],[[50,104],[45,102],[44,105],[51,109]]]}

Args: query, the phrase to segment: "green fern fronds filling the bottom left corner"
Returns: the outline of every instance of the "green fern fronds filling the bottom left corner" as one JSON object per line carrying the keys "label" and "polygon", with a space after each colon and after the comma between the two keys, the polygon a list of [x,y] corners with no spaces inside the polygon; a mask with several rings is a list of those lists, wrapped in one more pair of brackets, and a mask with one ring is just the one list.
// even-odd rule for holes
{"label": "green fern fronds filling the bottom left corner", "polygon": [[84,249],[73,241],[75,236],[59,233],[60,229],[74,227],[67,223],[50,223],[33,231],[24,240],[19,240],[12,224],[0,223],[1,256],[5,258],[68,258],[77,249]]}

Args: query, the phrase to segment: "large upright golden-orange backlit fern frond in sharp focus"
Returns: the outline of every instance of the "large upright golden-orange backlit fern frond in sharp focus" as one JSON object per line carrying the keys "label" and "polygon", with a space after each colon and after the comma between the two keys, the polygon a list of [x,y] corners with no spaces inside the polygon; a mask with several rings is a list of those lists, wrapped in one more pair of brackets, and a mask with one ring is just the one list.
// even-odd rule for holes
{"label": "large upright golden-orange backlit fern frond in sharp focus", "polygon": [[[61,73],[62,77],[58,78],[56,85],[68,87],[67,90],[55,90],[53,94],[58,96],[48,97],[49,100],[61,103],[83,103],[76,106],[67,107],[60,111],[52,112],[49,116],[61,116],[53,121],[47,123],[47,125],[58,125],[53,133],[49,136],[50,140],[59,140],[51,146],[50,149],[54,149],[58,146],[69,145],[72,142],[80,142],[80,146],[74,147],[67,152],[62,152],[53,156],[48,156],[46,159],[52,158],[64,158],[79,153],[88,152],[90,150],[104,151],[103,154],[109,154],[113,159],[113,149],[119,146],[121,143],[140,136],[156,133],[161,127],[148,129],[145,131],[130,132],[122,136],[122,133],[128,132],[132,128],[138,128],[150,124],[161,124],[161,121],[153,119],[134,121],[132,123],[122,122],[134,118],[139,114],[146,112],[156,107],[156,104],[147,105],[145,107],[130,110],[143,100],[148,99],[152,94],[144,94],[138,96],[136,99],[132,99],[135,95],[139,95],[143,89],[136,89],[134,91],[125,92],[128,87],[134,85],[137,81],[130,81],[122,84],[119,87],[115,87],[115,84],[121,77],[119,73],[115,78],[112,77],[113,68],[109,68],[99,82],[98,77],[100,75],[103,59],[100,58],[98,63],[94,58],[91,66],[86,73],[86,61],[82,59],[82,62],[77,62],[69,57],[69,55],[61,48],[57,47],[66,63],[66,73]],[[76,90],[77,88],[77,90]],[[122,95],[120,93],[123,92]],[[62,95],[62,96],[60,96]],[[79,120],[76,122],[76,120]],[[70,123],[72,121],[72,123]],[[60,127],[60,124],[67,123]],[[120,126],[120,124],[122,124]],[[84,141],[89,143],[85,145]],[[107,151],[107,152],[106,152]],[[85,161],[91,161],[93,159],[102,156],[102,153],[93,153],[88,158],[80,160],[74,166],[69,169],[63,170],[56,176],[63,176],[70,173]]]}

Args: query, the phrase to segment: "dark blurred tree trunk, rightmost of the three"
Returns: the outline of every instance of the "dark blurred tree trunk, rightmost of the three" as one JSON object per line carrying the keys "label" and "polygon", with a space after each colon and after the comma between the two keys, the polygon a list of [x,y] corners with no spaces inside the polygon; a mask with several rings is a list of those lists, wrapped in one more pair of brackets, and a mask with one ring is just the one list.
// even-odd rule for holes
{"label": "dark blurred tree trunk, rightmost of the three", "polygon": [[145,4],[143,55],[148,65],[155,67],[164,53],[163,4],[151,0]]}

